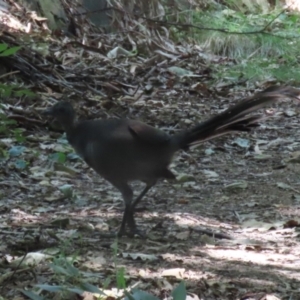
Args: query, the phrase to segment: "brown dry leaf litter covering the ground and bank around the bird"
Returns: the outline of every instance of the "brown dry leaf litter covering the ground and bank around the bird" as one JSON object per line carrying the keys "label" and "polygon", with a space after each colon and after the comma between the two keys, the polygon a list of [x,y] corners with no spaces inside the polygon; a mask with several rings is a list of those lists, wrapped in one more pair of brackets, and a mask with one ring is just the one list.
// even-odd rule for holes
{"label": "brown dry leaf litter covering the ground and bank around the bird", "polygon": [[[136,213],[149,238],[116,245],[97,233],[119,224],[120,195],[40,112],[54,99],[70,98],[80,119],[126,116],[172,134],[265,86],[229,90],[222,79],[212,85],[208,66],[219,60],[197,45],[176,45],[148,29],[136,37],[91,34],[87,20],[77,22],[84,43],[57,36],[47,40],[47,55],[24,46],[7,60],[20,73],[8,83],[22,79],[39,99],[11,97],[1,107],[16,121],[0,140],[1,294],[21,299],[16,287],[35,284],[59,290],[63,274],[74,288],[88,278],[116,299],[124,295],[116,289],[124,268],[126,286],[137,285],[138,298],[147,291],[168,299],[182,280],[186,299],[299,298],[298,108],[286,104],[250,134],[179,153],[172,163],[179,180],[157,184]],[[33,27],[42,31],[37,22]],[[23,45],[13,34],[0,38]],[[146,55],[135,53],[136,45]]]}

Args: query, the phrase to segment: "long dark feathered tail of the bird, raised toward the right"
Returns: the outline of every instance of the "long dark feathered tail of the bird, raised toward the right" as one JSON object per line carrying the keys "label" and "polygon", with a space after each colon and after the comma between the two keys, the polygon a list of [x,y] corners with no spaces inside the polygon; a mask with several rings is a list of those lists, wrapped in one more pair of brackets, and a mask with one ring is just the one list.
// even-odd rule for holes
{"label": "long dark feathered tail of the bird, raised toward the right", "polygon": [[266,118],[262,115],[250,115],[250,113],[267,106],[282,98],[295,98],[300,91],[293,87],[272,86],[266,90],[246,98],[234,106],[229,107],[224,112],[200,123],[191,129],[175,135],[181,149],[188,149],[204,141],[218,136],[237,131],[250,131],[251,128],[258,126],[261,119]]}

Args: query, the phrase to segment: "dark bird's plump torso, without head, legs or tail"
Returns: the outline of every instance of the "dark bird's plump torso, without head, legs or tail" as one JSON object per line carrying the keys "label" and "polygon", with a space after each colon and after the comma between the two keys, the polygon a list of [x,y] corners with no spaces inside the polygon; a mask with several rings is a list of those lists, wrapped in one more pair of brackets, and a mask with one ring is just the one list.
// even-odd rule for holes
{"label": "dark bird's plump torso, without head, legs or tail", "polygon": [[84,121],[67,131],[67,139],[85,162],[113,185],[166,177],[178,146],[168,134],[148,125],[147,139],[140,137],[134,128],[142,125],[146,128],[127,119]]}

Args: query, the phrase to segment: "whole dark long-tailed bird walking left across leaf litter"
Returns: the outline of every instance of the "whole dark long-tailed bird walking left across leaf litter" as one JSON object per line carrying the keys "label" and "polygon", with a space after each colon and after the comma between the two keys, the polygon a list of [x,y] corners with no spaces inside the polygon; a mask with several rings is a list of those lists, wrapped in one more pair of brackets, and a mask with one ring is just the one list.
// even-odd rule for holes
{"label": "whole dark long-tailed bird walking left across leaf litter", "polygon": [[[297,98],[299,91],[291,87],[271,87],[229,107],[224,112],[175,135],[128,119],[75,122],[75,111],[68,102],[59,102],[45,113],[54,116],[67,133],[75,151],[122,194],[125,202],[119,235],[128,224],[132,233],[137,227],[135,206],[160,178],[174,178],[168,169],[180,149],[218,136],[249,131],[257,126],[260,115],[249,115],[282,97]],[[146,183],[145,189],[133,199],[130,181]]]}

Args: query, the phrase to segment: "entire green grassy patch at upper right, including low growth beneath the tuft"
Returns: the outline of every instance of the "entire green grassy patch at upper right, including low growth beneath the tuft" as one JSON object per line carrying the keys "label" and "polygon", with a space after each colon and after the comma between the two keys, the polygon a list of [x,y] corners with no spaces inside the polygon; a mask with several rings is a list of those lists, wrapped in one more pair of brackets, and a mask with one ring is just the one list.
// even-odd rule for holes
{"label": "entire green grassy patch at upper right, including low growth beneath the tuft", "polygon": [[[181,11],[177,22],[197,28],[174,26],[173,37],[180,41],[192,40],[204,52],[235,60],[227,67],[225,63],[211,66],[217,69],[217,82],[241,79],[299,82],[299,15],[285,12],[281,7],[267,13],[258,3],[253,3],[251,8],[241,3],[232,0],[226,1],[227,7],[210,4],[205,10]],[[174,17],[169,17],[169,21],[174,21]]]}

